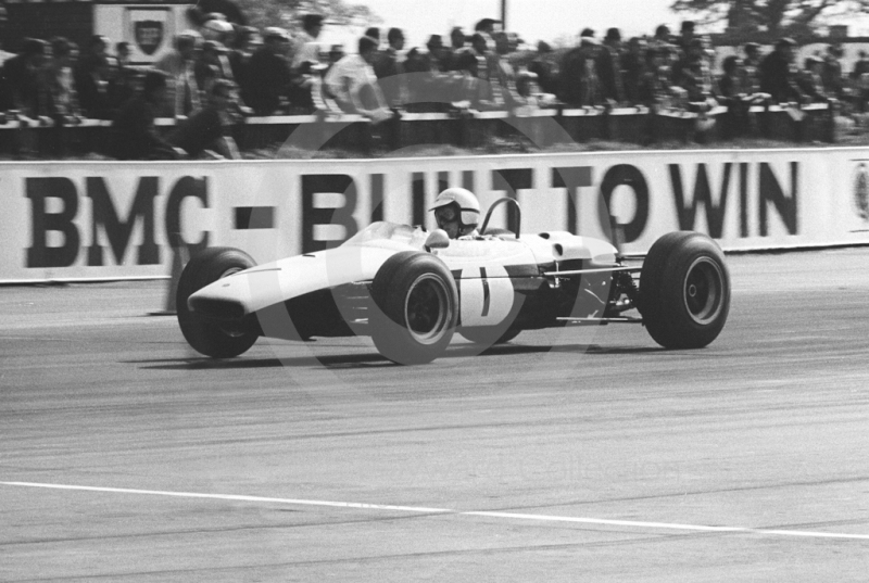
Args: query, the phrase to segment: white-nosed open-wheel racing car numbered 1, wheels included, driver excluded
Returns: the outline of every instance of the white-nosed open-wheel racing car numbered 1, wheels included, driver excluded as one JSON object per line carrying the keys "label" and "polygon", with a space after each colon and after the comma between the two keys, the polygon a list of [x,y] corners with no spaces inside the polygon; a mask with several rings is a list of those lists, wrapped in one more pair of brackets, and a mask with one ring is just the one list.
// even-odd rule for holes
{"label": "white-nosed open-wheel racing car numbered 1, wheels included, driver excluded", "polygon": [[[502,204],[515,206],[514,225],[487,228]],[[638,257],[609,241],[521,233],[520,225],[518,203],[504,198],[473,237],[377,221],[333,249],[264,265],[210,248],[181,273],[178,324],[214,358],[238,356],[260,337],[369,335],[403,365],[443,355],[456,332],[488,346],[522,330],[629,322],[665,348],[700,348],[721,332],[730,276],[709,237],[670,232]]]}

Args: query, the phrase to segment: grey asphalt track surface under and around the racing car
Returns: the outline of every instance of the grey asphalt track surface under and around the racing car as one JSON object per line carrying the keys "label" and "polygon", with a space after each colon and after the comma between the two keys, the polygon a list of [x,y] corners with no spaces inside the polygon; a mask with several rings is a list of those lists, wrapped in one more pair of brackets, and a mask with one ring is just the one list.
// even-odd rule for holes
{"label": "grey asphalt track surface under and around the racing car", "polygon": [[0,288],[0,580],[866,581],[869,250],[729,263],[706,350],[411,368],[202,358],[163,282]]}

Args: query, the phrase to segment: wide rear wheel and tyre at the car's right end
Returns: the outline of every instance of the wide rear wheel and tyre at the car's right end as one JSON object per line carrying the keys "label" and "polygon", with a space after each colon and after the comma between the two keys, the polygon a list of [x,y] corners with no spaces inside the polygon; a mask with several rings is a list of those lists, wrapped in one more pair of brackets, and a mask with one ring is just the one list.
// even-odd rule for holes
{"label": "wide rear wheel and tyre at the car's right end", "polygon": [[640,313],[665,348],[702,348],[730,309],[730,274],[718,244],[692,231],[670,232],[648,250],[640,275]]}

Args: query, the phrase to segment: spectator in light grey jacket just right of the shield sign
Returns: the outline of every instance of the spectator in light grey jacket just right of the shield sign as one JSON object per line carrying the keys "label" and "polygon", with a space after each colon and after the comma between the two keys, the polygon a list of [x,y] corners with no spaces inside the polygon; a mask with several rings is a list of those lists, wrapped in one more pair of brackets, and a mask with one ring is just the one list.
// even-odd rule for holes
{"label": "spectator in light grey jacket just right of the shield sign", "polygon": [[154,63],[154,68],[168,75],[166,103],[161,112],[163,115],[181,117],[201,107],[194,72],[196,55],[201,45],[202,35],[196,30],[185,30],[175,37],[175,49]]}

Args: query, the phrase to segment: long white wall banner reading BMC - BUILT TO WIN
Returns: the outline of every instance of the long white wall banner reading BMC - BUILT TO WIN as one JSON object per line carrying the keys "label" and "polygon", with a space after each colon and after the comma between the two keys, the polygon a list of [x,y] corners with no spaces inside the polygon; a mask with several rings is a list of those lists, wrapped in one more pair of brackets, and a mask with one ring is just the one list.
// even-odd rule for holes
{"label": "long white wall banner reading BMC - BUILT TO WIN", "polygon": [[[517,199],[522,232],[665,232],[726,250],[869,243],[869,150],[618,152],[368,161],[3,163],[0,280],[165,276],[179,245],[259,263],[340,244],[374,220],[432,228],[438,192]],[[515,224],[502,205],[492,225]]]}

